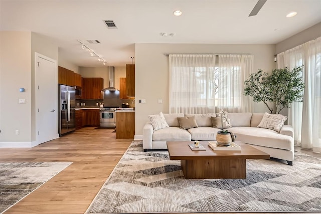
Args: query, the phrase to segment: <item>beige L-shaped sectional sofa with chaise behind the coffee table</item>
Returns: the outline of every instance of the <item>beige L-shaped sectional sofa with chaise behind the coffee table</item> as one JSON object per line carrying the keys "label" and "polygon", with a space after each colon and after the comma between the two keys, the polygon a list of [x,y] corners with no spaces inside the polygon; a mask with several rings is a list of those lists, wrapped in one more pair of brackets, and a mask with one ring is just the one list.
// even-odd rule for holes
{"label": "beige L-shaped sectional sofa with chaise behind the coffee table", "polygon": [[[262,150],[270,157],[286,160],[292,165],[294,157],[293,127],[283,125],[280,132],[271,129],[258,128],[263,113],[228,113],[232,128],[228,128],[236,135],[236,140],[247,143]],[[198,128],[181,129],[178,117],[195,116]],[[167,141],[216,140],[217,132],[221,129],[213,128],[209,114],[164,114],[169,127],[153,130],[150,122],[143,127],[143,149],[167,149]]]}

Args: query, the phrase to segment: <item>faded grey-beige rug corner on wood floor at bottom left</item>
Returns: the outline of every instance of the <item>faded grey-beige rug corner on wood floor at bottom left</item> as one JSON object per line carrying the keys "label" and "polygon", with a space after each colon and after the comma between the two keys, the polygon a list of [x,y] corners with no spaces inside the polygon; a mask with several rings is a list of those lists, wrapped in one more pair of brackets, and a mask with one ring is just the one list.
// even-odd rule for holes
{"label": "faded grey-beige rug corner on wood floor at bottom left", "polygon": [[64,170],[72,162],[0,162],[0,213]]}

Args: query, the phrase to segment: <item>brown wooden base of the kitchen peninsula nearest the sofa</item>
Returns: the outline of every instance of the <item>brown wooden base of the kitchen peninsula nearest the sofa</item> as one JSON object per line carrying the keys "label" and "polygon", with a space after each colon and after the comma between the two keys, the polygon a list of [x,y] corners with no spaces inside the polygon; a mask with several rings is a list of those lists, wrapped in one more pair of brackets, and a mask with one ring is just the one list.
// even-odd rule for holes
{"label": "brown wooden base of the kitchen peninsula nearest the sofa", "polygon": [[116,111],[116,139],[133,139],[135,135],[135,112]]}

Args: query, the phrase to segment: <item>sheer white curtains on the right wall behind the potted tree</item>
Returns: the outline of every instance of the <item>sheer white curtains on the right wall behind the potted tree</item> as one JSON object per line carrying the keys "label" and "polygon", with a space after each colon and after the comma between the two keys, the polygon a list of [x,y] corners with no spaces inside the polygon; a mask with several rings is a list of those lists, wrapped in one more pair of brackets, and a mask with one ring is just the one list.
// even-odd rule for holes
{"label": "sheer white curtains on the right wall behind the potted tree", "polygon": [[[279,61],[280,60],[280,61]],[[301,60],[301,61],[300,61]],[[304,97],[302,105],[292,105],[289,117],[301,147],[321,152],[321,37],[278,54],[278,67],[303,64]],[[295,117],[300,115],[301,121]],[[299,118],[299,117],[298,117]]]}

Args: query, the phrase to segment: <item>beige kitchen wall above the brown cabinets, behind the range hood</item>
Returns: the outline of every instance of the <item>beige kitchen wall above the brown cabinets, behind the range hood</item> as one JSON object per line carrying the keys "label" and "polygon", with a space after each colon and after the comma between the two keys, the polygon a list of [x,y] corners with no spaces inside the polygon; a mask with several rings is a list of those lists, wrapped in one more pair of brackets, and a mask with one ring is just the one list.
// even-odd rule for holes
{"label": "beige kitchen wall above the brown cabinets, behind the range hood", "polygon": [[[126,77],[126,67],[115,67],[114,87],[119,89],[119,78]],[[79,67],[81,77],[101,77],[104,79],[104,88],[109,87],[109,67]]]}

